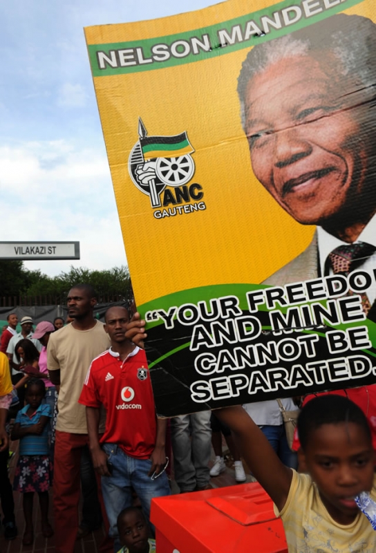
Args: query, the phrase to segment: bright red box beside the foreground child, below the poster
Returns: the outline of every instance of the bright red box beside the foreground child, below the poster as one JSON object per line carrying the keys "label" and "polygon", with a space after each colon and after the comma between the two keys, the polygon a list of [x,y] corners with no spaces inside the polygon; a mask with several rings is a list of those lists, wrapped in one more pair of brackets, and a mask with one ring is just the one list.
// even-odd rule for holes
{"label": "bright red box beside the foreground child, below the poster", "polygon": [[282,521],[259,484],[151,502],[158,553],[288,553]]}

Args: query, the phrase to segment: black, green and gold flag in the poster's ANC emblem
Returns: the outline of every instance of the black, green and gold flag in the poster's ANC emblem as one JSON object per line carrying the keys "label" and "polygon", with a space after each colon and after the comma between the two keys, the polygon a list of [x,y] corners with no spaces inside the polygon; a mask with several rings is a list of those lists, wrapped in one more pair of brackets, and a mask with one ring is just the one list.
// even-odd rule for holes
{"label": "black, green and gold flag in the poster's ANC emblem", "polygon": [[178,158],[186,153],[193,153],[187,133],[175,136],[144,136],[140,138],[144,160],[153,158]]}

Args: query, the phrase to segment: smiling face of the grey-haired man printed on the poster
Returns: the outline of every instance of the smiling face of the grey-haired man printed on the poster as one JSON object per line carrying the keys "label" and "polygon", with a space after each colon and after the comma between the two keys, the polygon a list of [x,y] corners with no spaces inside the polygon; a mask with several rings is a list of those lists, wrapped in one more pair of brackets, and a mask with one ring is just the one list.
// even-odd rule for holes
{"label": "smiling face of the grey-haired man printed on the poster", "polygon": [[245,96],[254,174],[306,225],[347,213],[366,194],[367,136],[348,80],[332,68],[305,55],[281,59],[252,77]]}

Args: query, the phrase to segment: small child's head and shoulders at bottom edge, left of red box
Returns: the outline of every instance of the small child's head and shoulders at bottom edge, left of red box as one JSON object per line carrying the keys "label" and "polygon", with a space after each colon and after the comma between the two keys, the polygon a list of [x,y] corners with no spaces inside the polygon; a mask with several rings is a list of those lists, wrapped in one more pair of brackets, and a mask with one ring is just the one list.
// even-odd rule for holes
{"label": "small child's head and shoulders at bottom edge, left of red box", "polygon": [[149,525],[138,507],[127,507],[118,516],[120,543],[118,553],[155,553],[156,541],[149,538]]}

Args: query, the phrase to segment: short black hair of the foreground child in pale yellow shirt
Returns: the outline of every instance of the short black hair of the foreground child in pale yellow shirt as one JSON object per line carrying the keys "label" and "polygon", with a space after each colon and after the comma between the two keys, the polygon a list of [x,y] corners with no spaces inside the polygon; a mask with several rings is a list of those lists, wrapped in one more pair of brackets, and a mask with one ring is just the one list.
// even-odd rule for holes
{"label": "short black hair of the foreground child in pale yellow shirt", "polygon": [[353,422],[364,429],[372,440],[370,427],[360,407],[343,395],[330,394],[315,397],[306,403],[298,418],[298,435],[301,449],[306,449],[311,433],[323,424]]}

